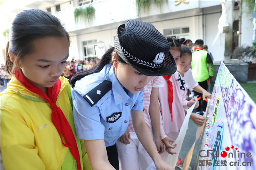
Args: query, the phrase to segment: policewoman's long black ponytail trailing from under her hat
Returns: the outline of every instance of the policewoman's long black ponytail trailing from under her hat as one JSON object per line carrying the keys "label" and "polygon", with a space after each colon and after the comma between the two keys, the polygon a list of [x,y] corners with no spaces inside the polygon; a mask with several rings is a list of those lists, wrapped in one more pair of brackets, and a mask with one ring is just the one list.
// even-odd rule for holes
{"label": "policewoman's long black ponytail trailing from under her hat", "polygon": [[[89,69],[89,70],[82,70],[82,71],[79,71],[77,73],[75,73],[75,75],[72,77],[71,79],[71,87],[74,88],[75,86],[75,82],[77,80],[80,80],[82,79],[83,77],[85,77],[86,75],[89,75],[89,74],[93,74],[93,73],[97,73],[97,72],[100,72],[103,67],[107,64],[110,64],[112,65],[113,62],[112,62],[112,54],[115,52],[115,48],[114,47],[110,47],[101,57],[100,59],[100,62],[98,64],[96,64],[95,67]],[[125,63],[121,57],[118,56],[118,54],[116,53],[117,55],[117,60],[120,61],[121,63]]]}

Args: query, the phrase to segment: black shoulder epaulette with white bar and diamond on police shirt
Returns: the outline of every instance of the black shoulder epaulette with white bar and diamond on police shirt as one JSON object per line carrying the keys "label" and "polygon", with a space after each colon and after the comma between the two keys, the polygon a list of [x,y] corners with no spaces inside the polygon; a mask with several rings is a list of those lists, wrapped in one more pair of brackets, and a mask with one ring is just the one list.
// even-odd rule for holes
{"label": "black shoulder epaulette with white bar and diamond on police shirt", "polygon": [[83,98],[90,104],[91,107],[95,105],[109,90],[112,88],[112,82],[104,80],[94,89],[89,91]]}

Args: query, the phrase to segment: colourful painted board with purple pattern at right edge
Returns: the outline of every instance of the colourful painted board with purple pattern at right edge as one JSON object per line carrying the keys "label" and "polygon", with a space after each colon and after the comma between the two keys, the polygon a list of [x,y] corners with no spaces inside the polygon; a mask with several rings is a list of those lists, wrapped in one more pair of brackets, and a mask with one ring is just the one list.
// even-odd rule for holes
{"label": "colourful painted board with purple pattern at right edge", "polygon": [[206,119],[197,169],[255,170],[256,104],[223,62]]}

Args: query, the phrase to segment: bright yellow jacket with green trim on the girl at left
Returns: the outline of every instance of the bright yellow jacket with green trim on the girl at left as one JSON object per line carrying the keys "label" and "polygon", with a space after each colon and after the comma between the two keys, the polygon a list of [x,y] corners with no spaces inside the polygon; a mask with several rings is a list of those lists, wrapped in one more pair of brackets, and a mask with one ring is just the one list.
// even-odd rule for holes
{"label": "bright yellow jacket with green trim on the girl at left", "polygon": [[[56,105],[73,130],[82,168],[90,169],[84,143],[75,135],[70,85],[66,78],[59,79],[61,88]],[[49,103],[25,88],[15,76],[0,96],[1,153],[5,169],[77,169],[74,157],[63,146],[52,122]]]}

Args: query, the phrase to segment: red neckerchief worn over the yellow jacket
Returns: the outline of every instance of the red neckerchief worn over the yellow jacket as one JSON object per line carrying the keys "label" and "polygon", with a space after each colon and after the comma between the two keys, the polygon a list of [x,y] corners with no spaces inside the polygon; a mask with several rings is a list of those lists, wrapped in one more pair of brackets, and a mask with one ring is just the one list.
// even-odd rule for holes
{"label": "red neckerchief worn over the yellow jacket", "polygon": [[[59,94],[60,87],[61,87],[60,79],[58,79],[57,83],[55,83],[53,87],[47,88],[47,94],[48,94],[48,96],[47,96],[41,89],[39,89],[38,87],[33,85],[31,82],[29,82],[24,77],[21,69],[16,68],[14,71],[14,75],[15,75],[16,79],[21,84],[23,84],[23,86],[25,86],[28,90],[32,91],[33,93],[38,94],[39,96],[44,98],[44,100],[47,103],[50,104],[50,107],[53,109],[52,110],[52,121],[53,121],[55,128],[57,129],[57,131],[59,133],[60,139],[61,139],[63,145],[65,147],[69,148],[71,154],[75,158],[76,163],[77,163],[77,169],[81,170],[82,167],[81,167],[81,163],[80,163],[80,155],[79,155],[79,151],[78,151],[78,148],[76,145],[74,134],[73,134],[70,124],[69,124],[68,120],[66,119],[65,115],[63,114],[61,108],[56,105],[56,101],[57,101],[58,94]],[[63,142],[61,135],[65,139],[66,143]]]}

